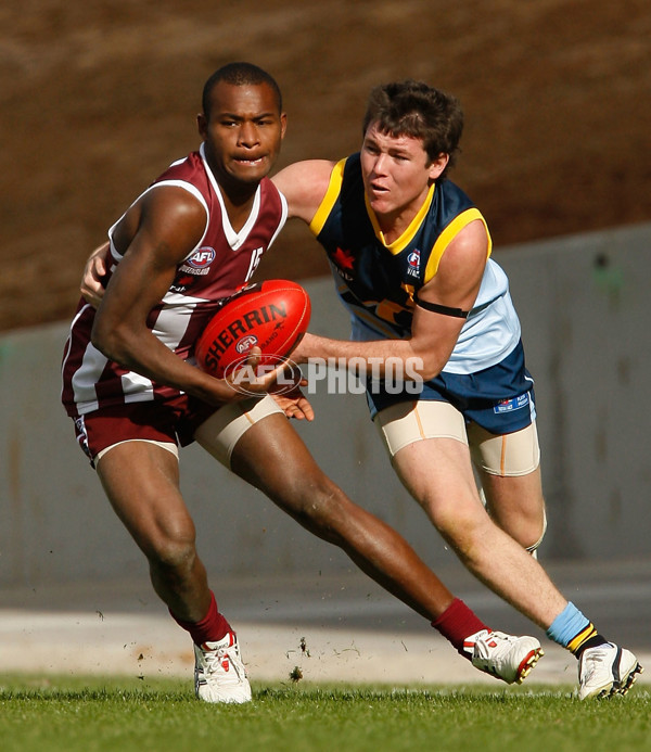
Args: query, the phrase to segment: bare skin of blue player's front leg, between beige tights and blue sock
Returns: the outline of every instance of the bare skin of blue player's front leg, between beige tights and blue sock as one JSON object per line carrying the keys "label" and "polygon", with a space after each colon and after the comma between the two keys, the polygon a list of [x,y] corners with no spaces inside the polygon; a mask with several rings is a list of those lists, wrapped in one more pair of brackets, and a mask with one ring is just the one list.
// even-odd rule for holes
{"label": "bare skin of blue player's front leg, between beige tights and blue sock", "polygon": [[545,570],[488,517],[468,446],[429,438],[400,449],[393,463],[465,566],[535,624],[547,628],[567,601]]}

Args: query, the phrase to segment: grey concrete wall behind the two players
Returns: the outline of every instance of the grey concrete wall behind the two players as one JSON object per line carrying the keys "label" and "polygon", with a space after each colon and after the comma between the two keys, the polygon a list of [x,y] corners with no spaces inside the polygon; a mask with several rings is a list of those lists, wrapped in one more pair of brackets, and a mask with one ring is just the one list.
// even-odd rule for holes
{"label": "grey concrete wall behind the two players", "polygon": [[[647,459],[651,225],[496,252],[520,311],[536,379],[548,559],[649,553]],[[306,285],[314,331],[346,336],[328,279]],[[74,441],[59,403],[67,322],[0,339],[0,585],[145,571]],[[297,424],[349,495],[397,527],[433,565],[452,555],[393,476],[363,396],[312,397]],[[200,549],[216,573],[315,573],[347,568],[260,494],[191,447],[182,485]]]}

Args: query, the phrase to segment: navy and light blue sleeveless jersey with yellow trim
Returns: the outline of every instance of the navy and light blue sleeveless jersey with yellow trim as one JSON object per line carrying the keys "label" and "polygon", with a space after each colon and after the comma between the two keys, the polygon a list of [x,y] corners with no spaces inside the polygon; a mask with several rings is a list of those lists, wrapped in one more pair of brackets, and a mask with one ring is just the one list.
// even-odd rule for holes
{"label": "navy and light blue sleeveless jersey with yellow trim", "polygon": [[[386,243],[366,197],[359,153],[339,162],[309,227],[328,254],[337,293],[350,311],[353,339],[408,339],[418,291],[436,275],[452,239],[475,219],[486,226],[465,193],[444,180],[431,187],[407,230]],[[489,234],[488,241],[490,255]],[[488,259],[446,370],[474,372],[499,362],[515,346],[520,323],[508,288],[505,272]],[[487,333],[489,337],[476,340]]]}

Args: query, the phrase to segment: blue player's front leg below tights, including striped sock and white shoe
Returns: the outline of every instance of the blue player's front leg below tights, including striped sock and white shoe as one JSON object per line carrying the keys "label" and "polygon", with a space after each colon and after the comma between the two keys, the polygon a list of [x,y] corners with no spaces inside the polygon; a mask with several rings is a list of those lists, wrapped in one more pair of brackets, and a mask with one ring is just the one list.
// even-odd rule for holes
{"label": "blue player's front leg below tights, including striped sock and white shoe", "polygon": [[[579,699],[628,691],[642,671],[637,658],[607,641],[559,592],[536,559],[490,520],[465,444],[451,438],[414,442],[399,449],[393,462],[465,566],[578,659]],[[537,485],[535,475],[528,480]]]}

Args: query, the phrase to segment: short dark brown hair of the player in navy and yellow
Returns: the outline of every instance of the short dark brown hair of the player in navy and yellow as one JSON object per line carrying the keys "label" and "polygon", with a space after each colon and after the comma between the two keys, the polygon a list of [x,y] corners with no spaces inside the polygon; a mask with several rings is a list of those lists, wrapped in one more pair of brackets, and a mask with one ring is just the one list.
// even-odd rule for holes
{"label": "short dark brown hair of the player in navy and yellow", "polygon": [[[391,136],[411,136],[423,141],[431,161],[448,154],[449,162],[441,175],[445,177],[455,163],[463,132],[463,111],[455,97],[434,89],[423,81],[407,79],[375,87],[363,116],[362,133],[376,123]],[[441,179],[439,178],[439,179]]]}

